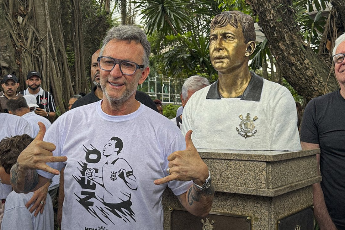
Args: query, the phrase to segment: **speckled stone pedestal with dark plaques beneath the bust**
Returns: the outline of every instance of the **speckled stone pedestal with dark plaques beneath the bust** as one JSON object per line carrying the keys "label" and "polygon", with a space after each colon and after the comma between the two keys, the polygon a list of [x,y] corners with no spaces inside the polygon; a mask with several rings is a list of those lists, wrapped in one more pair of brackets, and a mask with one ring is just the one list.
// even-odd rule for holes
{"label": "speckled stone pedestal with dark plaques beneath the bust", "polygon": [[208,222],[184,211],[167,189],[164,230],[201,230],[203,226],[214,230],[313,230],[312,184],[321,181],[316,162],[319,149],[198,151],[216,190]]}

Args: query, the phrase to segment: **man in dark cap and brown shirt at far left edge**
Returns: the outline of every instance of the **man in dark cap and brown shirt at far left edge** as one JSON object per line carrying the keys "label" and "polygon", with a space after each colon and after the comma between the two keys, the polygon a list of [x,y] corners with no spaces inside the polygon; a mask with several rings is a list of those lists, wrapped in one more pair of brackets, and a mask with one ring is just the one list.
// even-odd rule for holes
{"label": "man in dark cap and brown shirt at far left edge", "polygon": [[4,112],[8,113],[6,102],[16,96],[23,96],[21,93],[17,93],[19,87],[18,78],[14,74],[7,74],[2,79],[1,84],[3,91],[0,92],[0,103]]}

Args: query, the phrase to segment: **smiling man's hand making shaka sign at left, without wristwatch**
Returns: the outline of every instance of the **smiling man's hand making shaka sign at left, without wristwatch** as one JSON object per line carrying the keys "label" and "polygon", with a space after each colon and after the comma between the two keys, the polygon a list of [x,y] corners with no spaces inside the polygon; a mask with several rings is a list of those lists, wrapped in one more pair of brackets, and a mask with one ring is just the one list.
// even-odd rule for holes
{"label": "smiling man's hand making shaka sign at left, without wristwatch", "polygon": [[58,175],[59,170],[49,167],[46,163],[67,161],[67,157],[53,157],[52,151],[56,148],[55,144],[43,141],[46,126],[42,122],[38,122],[38,125],[40,130],[36,138],[20,153],[17,164],[25,170],[41,169]]}

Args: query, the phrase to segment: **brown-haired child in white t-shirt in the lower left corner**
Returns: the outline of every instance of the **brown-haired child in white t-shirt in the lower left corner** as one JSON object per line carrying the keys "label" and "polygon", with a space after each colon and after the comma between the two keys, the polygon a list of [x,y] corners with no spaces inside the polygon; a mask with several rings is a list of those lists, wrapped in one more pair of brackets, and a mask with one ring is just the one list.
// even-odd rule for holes
{"label": "brown-haired child in white t-shirt in the lower left corner", "polygon": [[[12,138],[4,138],[0,142],[0,179],[4,184],[10,184],[10,170],[17,162],[19,154],[31,143],[33,139],[23,134]],[[6,199],[5,211],[1,229],[25,230],[53,230],[54,216],[53,204],[47,196],[42,214],[34,217],[25,204],[31,199],[33,192],[16,193],[12,191]]]}

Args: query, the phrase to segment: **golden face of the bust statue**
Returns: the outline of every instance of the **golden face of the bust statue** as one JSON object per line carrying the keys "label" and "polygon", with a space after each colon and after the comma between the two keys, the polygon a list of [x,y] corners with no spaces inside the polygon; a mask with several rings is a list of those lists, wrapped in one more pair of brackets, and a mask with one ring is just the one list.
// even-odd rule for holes
{"label": "golden face of the bust statue", "polygon": [[209,50],[211,63],[220,73],[230,73],[244,64],[248,65],[247,44],[240,25],[238,28],[228,24],[211,29]]}

